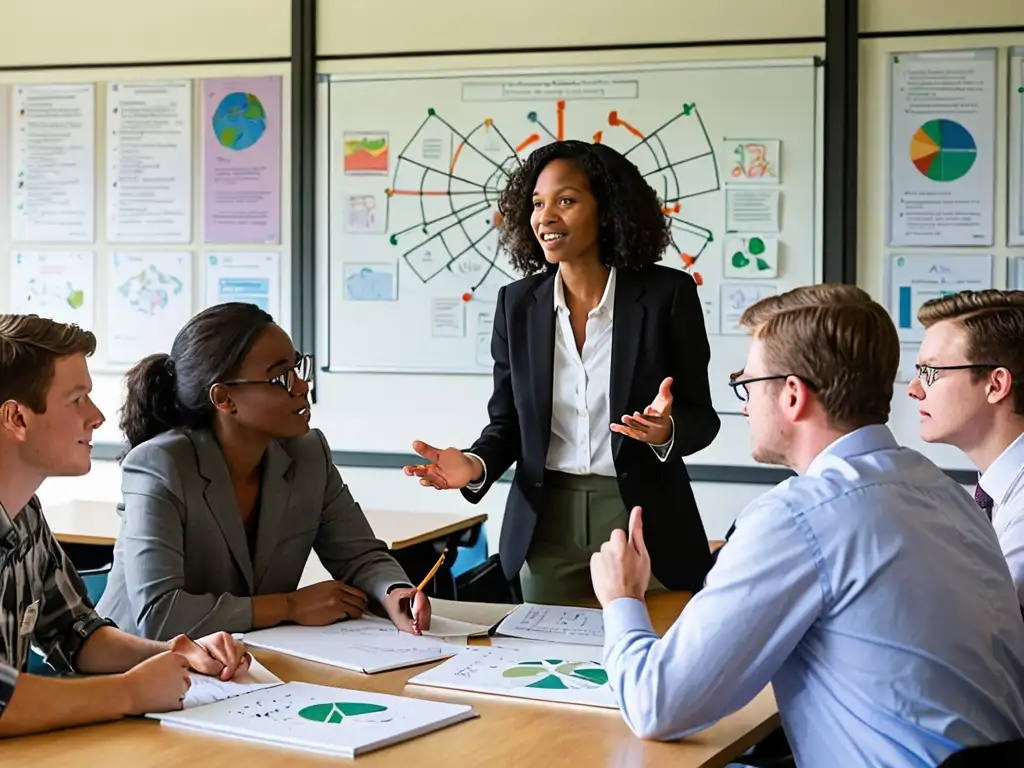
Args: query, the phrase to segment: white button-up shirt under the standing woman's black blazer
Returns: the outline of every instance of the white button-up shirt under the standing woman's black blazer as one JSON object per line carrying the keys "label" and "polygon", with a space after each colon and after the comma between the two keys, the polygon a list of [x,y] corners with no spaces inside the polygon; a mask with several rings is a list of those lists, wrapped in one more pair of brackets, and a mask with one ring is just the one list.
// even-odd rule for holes
{"label": "white button-up shirt under the standing woman's black blazer", "polygon": [[[615,306],[615,268],[608,271],[604,294],[598,305],[587,313],[586,339],[582,352],[577,349],[569,308],[565,301],[565,284],[561,269],[555,272],[555,348],[551,387],[551,440],[545,466],[556,472],[574,475],[615,476],[611,454],[611,338]],[[656,392],[651,392],[651,399]],[[616,414],[616,421],[624,414]],[[676,437],[676,422],[670,417],[672,431],[669,441],[651,445],[663,462],[669,458]],[[471,492],[483,487],[487,468],[483,460],[483,475],[466,487]]]}

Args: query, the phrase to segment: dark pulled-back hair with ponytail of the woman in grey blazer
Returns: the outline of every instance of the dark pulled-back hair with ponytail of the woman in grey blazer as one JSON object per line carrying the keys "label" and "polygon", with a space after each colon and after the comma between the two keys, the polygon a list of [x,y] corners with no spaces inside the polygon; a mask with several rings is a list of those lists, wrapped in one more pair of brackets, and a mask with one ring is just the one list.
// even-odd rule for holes
{"label": "dark pulled-back hair with ponytail of the woman in grey blazer", "polygon": [[162,432],[213,421],[210,387],[232,378],[273,317],[255,304],[217,304],[178,332],[170,354],[151,354],[125,377],[121,431],[129,449]]}

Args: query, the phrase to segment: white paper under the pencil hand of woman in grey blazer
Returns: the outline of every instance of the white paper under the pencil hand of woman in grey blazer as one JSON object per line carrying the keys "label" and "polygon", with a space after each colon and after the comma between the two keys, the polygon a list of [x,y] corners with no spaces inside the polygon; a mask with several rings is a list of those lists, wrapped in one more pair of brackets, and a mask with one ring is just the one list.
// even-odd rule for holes
{"label": "white paper under the pencil hand of woman in grey blazer", "polygon": [[390,622],[378,618],[354,618],[329,627],[272,627],[247,633],[245,643],[368,675],[437,662],[458,651],[456,645],[399,632]]}

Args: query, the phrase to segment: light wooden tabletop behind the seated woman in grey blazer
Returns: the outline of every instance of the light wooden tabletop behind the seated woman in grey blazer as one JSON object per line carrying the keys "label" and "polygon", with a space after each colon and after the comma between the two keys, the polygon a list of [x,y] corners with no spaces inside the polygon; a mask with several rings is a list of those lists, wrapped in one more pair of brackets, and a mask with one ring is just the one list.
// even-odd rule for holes
{"label": "light wooden tabletop behind the seated woman in grey blazer", "polygon": [[[374,536],[388,549],[410,549],[481,525],[486,514],[364,510]],[[43,508],[43,516],[61,544],[112,547],[121,531],[116,502],[69,502]]]}

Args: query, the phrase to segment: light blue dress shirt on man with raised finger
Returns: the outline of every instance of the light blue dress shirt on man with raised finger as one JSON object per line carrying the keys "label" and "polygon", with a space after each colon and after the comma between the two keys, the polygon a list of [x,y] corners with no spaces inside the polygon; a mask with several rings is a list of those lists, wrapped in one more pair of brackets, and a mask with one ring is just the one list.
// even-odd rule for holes
{"label": "light blue dress shirt on man with raised finger", "polygon": [[664,639],[639,600],[604,622],[644,738],[705,728],[769,682],[800,766],[935,766],[1024,735],[1024,623],[995,532],[885,426],[750,504]]}

